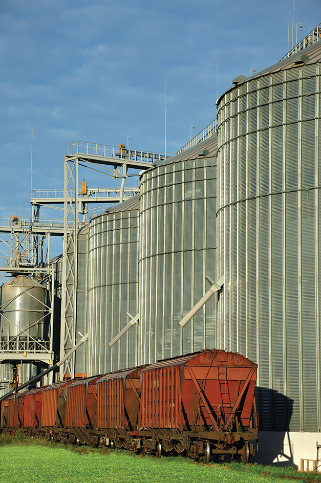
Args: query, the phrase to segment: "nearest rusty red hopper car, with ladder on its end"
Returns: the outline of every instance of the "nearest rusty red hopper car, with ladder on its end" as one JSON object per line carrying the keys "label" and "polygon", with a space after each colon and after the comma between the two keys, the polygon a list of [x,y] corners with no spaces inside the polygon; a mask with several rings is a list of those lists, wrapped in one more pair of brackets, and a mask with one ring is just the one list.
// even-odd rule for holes
{"label": "nearest rusty red hopper car, with ladder on its end", "polygon": [[258,443],[254,390],[257,365],[240,354],[203,350],[141,371],[144,452],[185,451],[247,463]]}

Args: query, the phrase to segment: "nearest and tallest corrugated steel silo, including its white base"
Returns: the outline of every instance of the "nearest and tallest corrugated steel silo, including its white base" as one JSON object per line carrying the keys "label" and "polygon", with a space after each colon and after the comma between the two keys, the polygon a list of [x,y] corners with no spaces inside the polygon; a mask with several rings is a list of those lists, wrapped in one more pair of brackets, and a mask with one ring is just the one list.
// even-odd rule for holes
{"label": "nearest and tallest corrugated steel silo, including its white base", "polygon": [[321,430],[320,60],[316,42],[218,101],[217,347],[258,363],[261,456],[296,464]]}

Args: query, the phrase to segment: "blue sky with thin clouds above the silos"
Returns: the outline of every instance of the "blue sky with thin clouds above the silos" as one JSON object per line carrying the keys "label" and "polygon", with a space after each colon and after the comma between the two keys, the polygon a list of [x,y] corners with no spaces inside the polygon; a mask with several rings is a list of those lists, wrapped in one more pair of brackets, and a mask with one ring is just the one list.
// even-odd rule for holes
{"label": "blue sky with thin clouds above the silos", "polygon": [[[292,0],[1,0],[0,214],[30,216],[33,188],[63,187],[68,143],[176,152],[216,117],[219,95],[287,52]],[[298,40],[321,22],[295,0]],[[102,178],[95,182],[109,186]],[[134,183],[133,183],[134,184]],[[128,184],[127,184],[128,185]],[[54,216],[54,215],[53,215]]]}

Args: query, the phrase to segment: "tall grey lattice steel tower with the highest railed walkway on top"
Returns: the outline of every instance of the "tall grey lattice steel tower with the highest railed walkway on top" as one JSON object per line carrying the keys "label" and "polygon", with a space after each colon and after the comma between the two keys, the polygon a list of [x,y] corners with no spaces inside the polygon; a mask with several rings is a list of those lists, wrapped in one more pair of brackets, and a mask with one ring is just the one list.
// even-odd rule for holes
{"label": "tall grey lattice steel tower with the highest railed walkway on top", "polygon": [[[137,190],[130,188],[130,196],[125,196],[124,185],[129,176],[128,170],[136,170],[137,173],[137,170],[144,170],[152,163],[159,163],[164,159],[164,155],[160,153],[126,149],[123,144],[118,147],[79,141],[69,144],[69,155],[65,156],[60,358],[65,356],[77,342],[78,217],[83,215],[84,209],[81,205],[94,202],[93,197],[79,194],[79,166],[94,169],[102,174],[112,172],[114,179],[121,179],[120,189],[117,190],[117,193],[119,192],[118,202],[121,203],[124,199],[129,199],[131,195],[139,192],[138,188]],[[99,200],[101,203],[102,200]],[[115,197],[113,201],[115,202]],[[75,357],[73,355],[66,361],[65,366],[60,367],[60,379],[66,374],[74,377],[74,366]]]}

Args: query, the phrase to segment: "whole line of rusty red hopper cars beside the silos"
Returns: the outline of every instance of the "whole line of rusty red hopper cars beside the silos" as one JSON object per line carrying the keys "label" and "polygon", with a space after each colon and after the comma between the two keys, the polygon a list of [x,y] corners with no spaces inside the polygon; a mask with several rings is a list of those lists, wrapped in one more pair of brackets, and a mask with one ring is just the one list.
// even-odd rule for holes
{"label": "whole line of rusty red hopper cars beside the silos", "polygon": [[205,349],[103,376],[64,380],[2,400],[3,432],[247,463],[258,449],[257,365]]}

